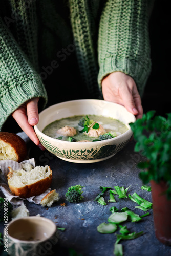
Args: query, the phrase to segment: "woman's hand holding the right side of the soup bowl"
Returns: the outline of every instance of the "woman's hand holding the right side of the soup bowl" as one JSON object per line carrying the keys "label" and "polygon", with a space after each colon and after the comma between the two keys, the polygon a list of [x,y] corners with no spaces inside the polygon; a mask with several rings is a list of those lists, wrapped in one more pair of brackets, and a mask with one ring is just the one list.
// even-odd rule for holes
{"label": "woman's hand holding the right side of the soup bowl", "polygon": [[114,72],[102,81],[103,98],[125,106],[127,111],[142,118],[141,98],[133,78],[122,72]]}

